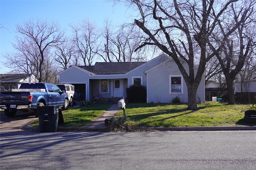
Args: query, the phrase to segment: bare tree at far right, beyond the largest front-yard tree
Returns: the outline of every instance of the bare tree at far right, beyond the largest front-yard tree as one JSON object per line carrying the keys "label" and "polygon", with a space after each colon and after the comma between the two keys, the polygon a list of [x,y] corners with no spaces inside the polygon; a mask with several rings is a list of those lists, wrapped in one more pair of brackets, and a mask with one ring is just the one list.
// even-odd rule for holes
{"label": "bare tree at far right, beyond the largest front-yard tree", "polygon": [[[235,104],[233,82],[254,48],[255,3],[255,0],[232,3],[230,12],[226,13],[222,20],[218,19],[219,30],[213,35],[215,41],[208,41],[213,51],[216,52],[216,48],[221,49],[216,52],[216,57],[226,77],[228,104]],[[217,17],[217,14],[214,14],[214,17]]]}

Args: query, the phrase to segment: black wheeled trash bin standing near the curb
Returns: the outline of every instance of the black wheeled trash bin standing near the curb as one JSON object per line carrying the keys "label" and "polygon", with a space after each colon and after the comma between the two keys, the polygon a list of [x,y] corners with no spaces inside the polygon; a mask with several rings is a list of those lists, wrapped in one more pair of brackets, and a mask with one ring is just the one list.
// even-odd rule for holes
{"label": "black wheeled trash bin standing near the curb", "polygon": [[59,107],[55,106],[38,106],[40,132],[56,132],[58,127]]}

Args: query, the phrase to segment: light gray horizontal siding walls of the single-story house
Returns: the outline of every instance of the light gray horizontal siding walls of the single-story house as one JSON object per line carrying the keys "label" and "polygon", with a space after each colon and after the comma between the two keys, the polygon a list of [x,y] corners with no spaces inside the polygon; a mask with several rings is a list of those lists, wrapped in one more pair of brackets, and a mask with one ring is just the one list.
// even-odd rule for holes
{"label": "light gray horizontal siding walls of the single-story house", "polygon": [[[159,57],[152,59],[146,64],[142,64],[127,74],[90,75],[89,72],[83,70],[82,68],[73,66],[59,73],[60,84],[86,84],[86,100],[90,100],[93,98],[93,96],[112,98],[114,79],[123,80],[123,94],[125,96],[126,88],[133,84],[132,78],[142,77],[142,85],[147,87],[148,103],[170,103],[176,96],[180,97],[181,102],[188,102],[188,91],[184,80],[183,93],[170,94],[170,76],[182,75],[176,63],[172,60],[164,62],[166,59],[167,58],[164,55],[160,55]],[[186,69],[188,69],[188,66],[186,66]],[[108,80],[108,92],[106,93],[100,92],[101,79]],[[197,100],[205,101],[204,76],[202,77],[202,81],[198,87]]]}

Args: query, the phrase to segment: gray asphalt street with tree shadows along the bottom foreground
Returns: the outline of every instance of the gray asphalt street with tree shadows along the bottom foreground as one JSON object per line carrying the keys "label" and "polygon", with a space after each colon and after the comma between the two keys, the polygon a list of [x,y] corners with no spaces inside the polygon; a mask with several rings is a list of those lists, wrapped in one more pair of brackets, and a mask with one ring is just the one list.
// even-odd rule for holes
{"label": "gray asphalt street with tree shadows along the bottom foreground", "polygon": [[1,170],[255,170],[256,131],[6,132]]}

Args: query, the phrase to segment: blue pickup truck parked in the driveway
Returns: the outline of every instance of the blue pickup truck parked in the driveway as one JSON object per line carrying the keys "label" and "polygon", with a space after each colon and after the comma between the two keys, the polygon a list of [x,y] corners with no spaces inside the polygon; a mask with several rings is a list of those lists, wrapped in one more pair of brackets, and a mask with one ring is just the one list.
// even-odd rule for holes
{"label": "blue pickup truck parked in the driveway", "polygon": [[13,117],[17,110],[34,110],[38,117],[38,106],[57,106],[68,109],[68,95],[58,86],[50,83],[24,83],[12,92],[0,93],[0,107],[8,117]]}

